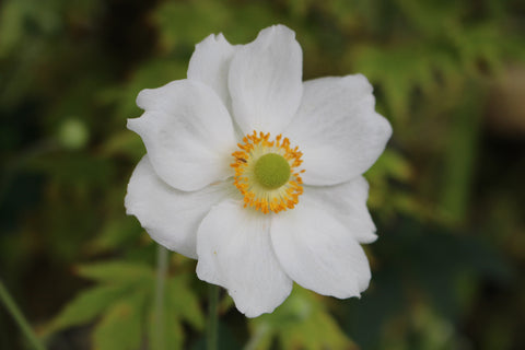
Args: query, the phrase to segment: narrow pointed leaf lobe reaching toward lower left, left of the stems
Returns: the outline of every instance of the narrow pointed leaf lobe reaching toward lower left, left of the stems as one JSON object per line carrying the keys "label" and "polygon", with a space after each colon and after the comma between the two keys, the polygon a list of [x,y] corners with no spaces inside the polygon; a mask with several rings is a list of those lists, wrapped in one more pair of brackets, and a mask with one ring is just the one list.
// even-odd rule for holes
{"label": "narrow pointed leaf lobe reaching toward lower left, left of the stems", "polygon": [[124,295],[126,290],[122,285],[102,285],[81,292],[51,320],[45,334],[93,320]]}

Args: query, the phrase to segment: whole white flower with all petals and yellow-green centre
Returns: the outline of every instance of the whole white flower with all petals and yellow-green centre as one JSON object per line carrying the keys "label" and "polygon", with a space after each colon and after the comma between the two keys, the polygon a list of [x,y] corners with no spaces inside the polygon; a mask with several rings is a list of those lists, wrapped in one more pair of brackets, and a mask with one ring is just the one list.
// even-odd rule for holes
{"label": "whole white flower with all petals and yellow-green centre", "polygon": [[[201,280],[255,317],[293,281],[359,296],[375,241],[361,176],[392,128],[363,75],[302,82],[302,50],[283,25],[247,45],[222,34],[196,46],[188,79],[143,90],[128,128],[148,154],[126,208],[153,240],[198,259]],[[268,155],[270,154],[270,155]]]}

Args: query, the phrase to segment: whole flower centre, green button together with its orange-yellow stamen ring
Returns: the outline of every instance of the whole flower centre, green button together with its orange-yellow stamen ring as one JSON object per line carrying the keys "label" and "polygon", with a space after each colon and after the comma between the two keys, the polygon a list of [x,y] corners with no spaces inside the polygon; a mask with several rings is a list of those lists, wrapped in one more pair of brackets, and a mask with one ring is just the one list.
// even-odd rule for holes
{"label": "whole flower centre, green button together with its orange-yellow stamen ring", "polygon": [[234,185],[244,196],[244,207],[262,213],[293,209],[303,194],[299,170],[303,153],[292,148],[281,135],[270,139],[270,133],[253,131],[238,143],[232,155],[235,161]]}

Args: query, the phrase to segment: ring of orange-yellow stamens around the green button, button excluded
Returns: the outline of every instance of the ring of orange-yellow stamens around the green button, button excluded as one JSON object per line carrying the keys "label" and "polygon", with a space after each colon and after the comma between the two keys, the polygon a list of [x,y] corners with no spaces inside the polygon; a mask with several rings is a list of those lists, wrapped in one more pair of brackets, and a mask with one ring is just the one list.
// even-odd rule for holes
{"label": "ring of orange-yellow stamens around the green button, button excluded", "polygon": [[[303,194],[303,180],[298,167],[303,162],[303,153],[299,148],[291,148],[290,140],[278,135],[270,141],[270,133],[254,130],[243,138],[244,143],[238,143],[240,151],[233,152],[235,161],[231,166],[235,170],[234,185],[244,196],[244,207],[253,207],[262,213],[270,211],[280,212],[293,209],[299,202],[299,196]],[[278,188],[268,188],[257,180],[255,165],[266,154],[281,155],[290,165],[290,178]]]}

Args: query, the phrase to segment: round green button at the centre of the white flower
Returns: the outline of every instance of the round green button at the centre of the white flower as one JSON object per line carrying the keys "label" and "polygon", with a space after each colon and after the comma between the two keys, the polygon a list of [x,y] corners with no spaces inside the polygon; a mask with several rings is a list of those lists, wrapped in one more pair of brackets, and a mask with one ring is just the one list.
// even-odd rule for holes
{"label": "round green button at the centre of the white flower", "polygon": [[290,178],[290,164],[280,154],[265,154],[255,163],[255,177],[268,189],[279,188]]}

